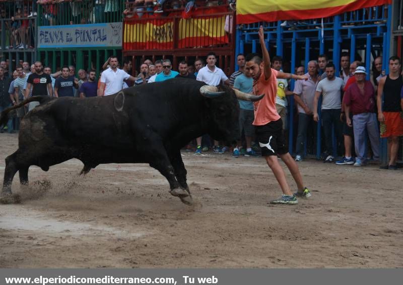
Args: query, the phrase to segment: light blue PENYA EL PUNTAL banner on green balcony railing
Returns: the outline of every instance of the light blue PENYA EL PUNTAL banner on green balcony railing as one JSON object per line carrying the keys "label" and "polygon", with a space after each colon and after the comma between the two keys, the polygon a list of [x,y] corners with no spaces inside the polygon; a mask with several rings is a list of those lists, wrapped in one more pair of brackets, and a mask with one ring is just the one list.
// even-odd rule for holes
{"label": "light blue PENYA EL PUNTAL banner on green balcony railing", "polygon": [[38,48],[121,47],[122,23],[38,27]]}

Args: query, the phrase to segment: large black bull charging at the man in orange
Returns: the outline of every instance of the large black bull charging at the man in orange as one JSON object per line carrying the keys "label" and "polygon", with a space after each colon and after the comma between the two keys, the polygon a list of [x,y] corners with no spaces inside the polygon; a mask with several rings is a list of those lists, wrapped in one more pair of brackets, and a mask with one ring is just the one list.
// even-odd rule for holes
{"label": "large black bull charging at the man in orange", "polygon": [[105,97],[31,97],[0,118],[4,124],[18,107],[41,103],[21,121],[18,150],[6,158],[0,202],[18,202],[11,192],[17,171],[21,184],[27,184],[31,165],[47,171],[51,165],[77,158],[84,163],[80,174],[101,163],[149,163],[167,178],[173,196],[191,204],[180,149],[204,134],[234,141],[237,98],[256,101],[261,96],[175,78]]}

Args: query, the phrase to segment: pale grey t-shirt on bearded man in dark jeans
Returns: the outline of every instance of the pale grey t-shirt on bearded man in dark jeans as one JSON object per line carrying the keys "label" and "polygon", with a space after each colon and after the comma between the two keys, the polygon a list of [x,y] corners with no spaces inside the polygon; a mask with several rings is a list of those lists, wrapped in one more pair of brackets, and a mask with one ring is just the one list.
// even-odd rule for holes
{"label": "pale grey t-shirt on bearded man in dark jeans", "polygon": [[341,91],[344,85],[344,81],[340,77],[334,77],[333,80],[326,77],[319,81],[316,91],[322,92],[322,110],[342,108]]}

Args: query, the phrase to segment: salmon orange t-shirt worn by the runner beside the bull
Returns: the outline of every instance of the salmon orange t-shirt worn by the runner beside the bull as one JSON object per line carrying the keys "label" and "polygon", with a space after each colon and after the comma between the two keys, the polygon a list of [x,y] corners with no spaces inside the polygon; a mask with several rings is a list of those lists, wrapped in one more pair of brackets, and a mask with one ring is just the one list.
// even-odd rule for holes
{"label": "salmon orange t-shirt worn by the runner beside the bull", "polygon": [[270,78],[266,80],[264,72],[261,72],[259,79],[253,82],[253,94],[264,94],[263,99],[253,104],[255,113],[253,125],[255,126],[263,126],[272,121],[278,121],[281,118],[276,109],[277,74],[278,71],[272,68]]}

